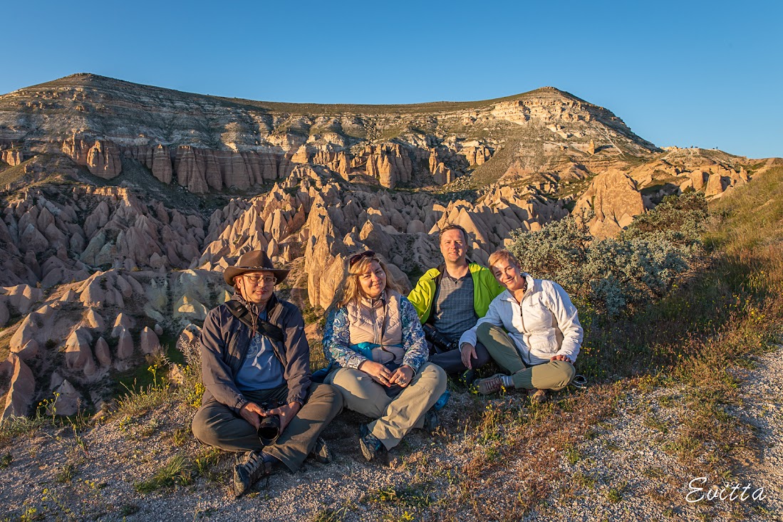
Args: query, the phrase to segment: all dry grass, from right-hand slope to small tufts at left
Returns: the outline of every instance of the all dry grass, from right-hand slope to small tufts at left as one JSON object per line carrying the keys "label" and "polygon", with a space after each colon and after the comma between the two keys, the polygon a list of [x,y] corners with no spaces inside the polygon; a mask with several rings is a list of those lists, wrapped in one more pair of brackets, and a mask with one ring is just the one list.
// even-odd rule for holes
{"label": "all dry grass, from right-hand slope to small tufts at left", "polygon": [[[622,504],[626,486],[602,488],[601,477],[568,474],[560,464],[583,459],[580,448],[611,429],[605,421],[619,416],[619,401],[633,388],[641,394],[659,387],[683,390],[659,399],[661,405],[681,404],[676,425],[640,405],[644,424],[661,434],[651,445],[677,455],[683,477],[698,470],[698,476],[708,474],[713,484],[753,463],[757,448],[752,430],[730,412],[739,405],[742,369],[781,335],[783,202],[769,197],[781,192],[781,182],[783,169],[778,168],[715,203],[708,236],[712,254],[662,301],[632,319],[589,325],[579,358],[579,369],[590,374],[588,391],[554,394],[544,405],[533,405],[515,393],[490,400],[464,397],[459,415],[433,439],[435,444],[456,443],[456,458],[449,459],[451,455],[438,448],[421,448],[404,458],[403,466],[414,470],[412,480],[368,488],[359,503],[388,520],[520,520],[568,489],[594,491],[604,501]],[[188,382],[171,387],[157,377],[151,387],[128,391],[118,401],[115,418],[135,423],[130,430],[135,437],[151,430],[143,441],[157,435],[157,427],[142,422],[151,409],[194,411],[189,395],[193,386]],[[0,445],[45,422],[48,419],[39,417],[5,424]],[[175,430],[165,440],[180,455],[186,437],[187,430]],[[195,477],[209,478],[217,453],[189,455],[151,470],[139,488],[156,491]],[[433,466],[433,459],[438,465]],[[674,477],[655,467],[640,474],[665,483],[662,492],[649,493],[652,501],[673,505],[681,486]],[[357,509],[325,509],[314,520],[341,520]],[[714,515],[716,509],[706,507],[702,513]],[[729,516],[745,514],[742,506],[727,509],[734,509]]]}

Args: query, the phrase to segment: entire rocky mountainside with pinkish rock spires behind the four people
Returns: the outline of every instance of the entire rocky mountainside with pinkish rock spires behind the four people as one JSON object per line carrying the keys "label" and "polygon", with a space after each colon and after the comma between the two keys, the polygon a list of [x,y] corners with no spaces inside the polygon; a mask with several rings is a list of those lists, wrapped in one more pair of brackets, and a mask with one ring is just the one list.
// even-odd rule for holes
{"label": "entire rocky mountainside with pinkish rock spires behind the four people", "polygon": [[296,270],[282,290],[315,323],[355,250],[415,283],[446,223],[485,262],[511,230],[576,209],[611,236],[666,194],[720,197],[776,161],[664,151],[555,88],[327,106],[92,74],[0,96],[0,160],[4,417],[52,391],[60,412],[98,409],[118,372],[226,298],[221,272],[248,250]]}

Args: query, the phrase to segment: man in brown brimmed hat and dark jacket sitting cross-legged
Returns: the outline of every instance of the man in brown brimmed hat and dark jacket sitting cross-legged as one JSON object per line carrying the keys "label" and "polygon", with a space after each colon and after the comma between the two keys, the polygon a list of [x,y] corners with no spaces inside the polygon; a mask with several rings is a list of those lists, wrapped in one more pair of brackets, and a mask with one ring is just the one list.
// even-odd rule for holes
{"label": "man in brown brimmed hat and dark jacket sitting cross-legged", "polygon": [[[310,380],[301,311],[274,292],[287,275],[261,250],[243,254],[223,274],[233,296],[209,312],[201,330],[206,391],[193,435],[241,452],[234,468],[237,497],[281,463],[295,471],[308,455],[331,460],[319,435],[341,411],[342,397],[334,387]],[[270,440],[269,427],[276,440]]]}

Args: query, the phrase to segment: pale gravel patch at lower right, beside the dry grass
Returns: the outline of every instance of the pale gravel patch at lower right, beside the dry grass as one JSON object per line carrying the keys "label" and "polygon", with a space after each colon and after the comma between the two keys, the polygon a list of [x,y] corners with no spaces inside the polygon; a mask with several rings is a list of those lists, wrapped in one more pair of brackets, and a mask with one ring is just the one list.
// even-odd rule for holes
{"label": "pale gravel patch at lower right, beside the dry grass", "polygon": [[[742,408],[731,413],[756,427],[761,452],[726,481],[751,484],[748,495],[763,488],[766,499],[687,502],[688,484],[700,475],[684,473],[677,456],[666,451],[677,440],[683,388],[632,391],[622,399],[621,415],[595,427],[578,454],[561,468],[570,480],[555,488],[545,506],[528,520],[781,520],[783,499],[783,347],[756,359],[756,369],[742,375]],[[698,463],[695,464],[698,469]],[[704,485],[695,482],[695,487]],[[698,499],[705,491],[696,491]],[[742,491],[739,491],[742,492]],[[742,506],[740,505],[742,504]]]}

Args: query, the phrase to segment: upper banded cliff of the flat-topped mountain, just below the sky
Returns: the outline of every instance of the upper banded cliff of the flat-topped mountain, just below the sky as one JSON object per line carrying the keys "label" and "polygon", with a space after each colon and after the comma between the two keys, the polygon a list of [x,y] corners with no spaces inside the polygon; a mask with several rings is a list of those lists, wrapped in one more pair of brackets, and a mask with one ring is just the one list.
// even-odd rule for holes
{"label": "upper banded cliff of the flat-topped mountain, just below the sky", "polygon": [[110,179],[124,155],[193,193],[264,185],[291,164],[366,175],[388,188],[444,185],[525,130],[556,144],[553,153],[587,149],[590,140],[656,150],[610,111],[554,88],[401,110],[229,100],[74,74],[0,97],[0,143],[16,151],[3,156],[8,164],[58,150]]}

